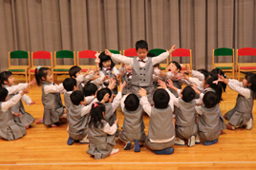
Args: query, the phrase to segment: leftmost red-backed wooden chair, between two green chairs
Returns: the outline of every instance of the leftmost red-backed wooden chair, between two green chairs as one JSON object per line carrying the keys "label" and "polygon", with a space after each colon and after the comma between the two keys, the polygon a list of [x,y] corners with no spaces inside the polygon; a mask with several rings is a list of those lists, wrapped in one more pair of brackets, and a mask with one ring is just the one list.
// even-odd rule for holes
{"label": "leftmost red-backed wooden chair, between two green chairs", "polygon": [[34,75],[34,70],[37,66],[33,65],[33,60],[37,60],[37,59],[41,59],[41,60],[50,60],[51,61],[51,66],[42,66],[42,67],[49,67],[52,70],[52,74],[53,74],[53,57],[52,57],[52,52],[48,52],[45,50],[39,50],[39,51],[35,51],[32,52],[32,67],[29,70],[29,81],[32,81],[32,75]]}

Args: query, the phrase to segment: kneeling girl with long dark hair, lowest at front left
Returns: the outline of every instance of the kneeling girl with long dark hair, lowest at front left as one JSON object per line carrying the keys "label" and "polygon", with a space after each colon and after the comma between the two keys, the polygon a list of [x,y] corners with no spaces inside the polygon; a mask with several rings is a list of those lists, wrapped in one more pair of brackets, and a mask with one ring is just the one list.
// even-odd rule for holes
{"label": "kneeling girl with long dark hair, lowest at front left", "polygon": [[116,145],[117,123],[110,126],[104,119],[106,113],[105,105],[101,103],[92,104],[90,120],[88,123],[89,149],[86,153],[95,157],[96,160],[116,154],[119,149],[114,149]]}

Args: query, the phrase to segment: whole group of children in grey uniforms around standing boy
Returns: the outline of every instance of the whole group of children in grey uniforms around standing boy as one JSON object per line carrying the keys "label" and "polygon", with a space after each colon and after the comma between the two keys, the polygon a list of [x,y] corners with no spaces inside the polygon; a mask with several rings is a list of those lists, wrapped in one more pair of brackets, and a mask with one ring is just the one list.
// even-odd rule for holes
{"label": "whole group of children in grey uniforms around standing boy", "polygon": [[[53,83],[48,67],[35,69],[35,81],[14,85],[10,71],[0,74],[0,137],[16,140],[26,134],[34,122],[21,102],[35,104],[26,95],[29,85],[42,86],[43,118],[36,123],[56,126],[68,120],[67,143],[89,143],[87,153],[95,159],[115,154],[116,140],[124,142],[124,150],[134,143],[134,151],[140,146],[155,154],[170,155],[174,144],[194,146],[203,140],[204,145],[218,142],[225,128],[252,128],[252,108],[256,97],[256,75],[247,73],[243,82],[226,79],[221,69],[208,72],[191,70],[170,62],[167,72],[161,71],[159,63],[165,60],[176,46],[160,56],[148,54],[148,45],[136,43],[138,57],[128,58],[105,50],[97,55],[96,70],[82,73],[79,66],[70,68],[70,78],[63,84]],[[153,56],[153,57],[148,57]],[[117,69],[115,63],[122,65]],[[188,77],[186,73],[191,74]],[[118,79],[121,78],[119,91]],[[181,88],[181,85],[184,85]],[[239,93],[235,107],[222,114],[220,102],[226,85]],[[64,93],[65,106],[60,93]],[[124,115],[118,128],[117,107]],[[145,134],[143,114],[149,116],[148,134]],[[224,119],[228,123],[224,123]],[[132,143],[133,142],[133,143]]]}

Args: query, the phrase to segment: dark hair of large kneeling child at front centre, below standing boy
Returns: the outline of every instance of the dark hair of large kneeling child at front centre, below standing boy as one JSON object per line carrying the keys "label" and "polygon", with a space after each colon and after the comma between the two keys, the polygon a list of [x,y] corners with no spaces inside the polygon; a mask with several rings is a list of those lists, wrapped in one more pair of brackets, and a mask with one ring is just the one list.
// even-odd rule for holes
{"label": "dark hair of large kneeling child at front centre, below standing boy", "polygon": [[170,96],[165,89],[159,88],[153,95],[153,101],[156,108],[167,108]]}

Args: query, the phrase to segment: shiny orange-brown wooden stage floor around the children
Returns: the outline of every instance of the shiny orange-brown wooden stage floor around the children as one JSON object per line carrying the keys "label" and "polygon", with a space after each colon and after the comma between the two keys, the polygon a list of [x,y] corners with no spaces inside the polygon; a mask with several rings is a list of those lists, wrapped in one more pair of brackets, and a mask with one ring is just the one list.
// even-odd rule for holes
{"label": "shiny orange-brown wooden stage floor around the children", "polygon": [[[15,77],[18,83],[19,77]],[[63,80],[61,77],[59,81]],[[37,104],[25,105],[26,110],[38,120],[43,116],[41,88],[32,86],[29,93]],[[62,96],[63,97],[63,96]],[[235,105],[237,93],[227,88],[224,102],[220,104],[223,114]],[[253,109],[256,116],[256,108]],[[122,124],[123,115],[117,109],[117,118]],[[149,119],[144,116],[148,131]],[[211,146],[203,143],[194,147],[174,145],[170,156],[155,155],[146,147],[139,153],[132,149],[124,151],[122,142],[117,142],[120,152],[104,160],[96,161],[86,150],[88,144],[67,145],[67,123],[49,128],[44,124],[32,124],[22,139],[8,142],[0,139],[0,169],[255,169],[256,168],[256,123],[251,130],[224,130],[219,142]]]}

